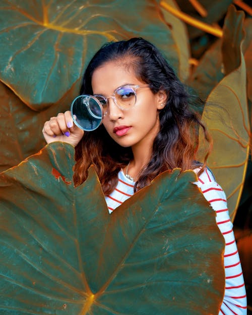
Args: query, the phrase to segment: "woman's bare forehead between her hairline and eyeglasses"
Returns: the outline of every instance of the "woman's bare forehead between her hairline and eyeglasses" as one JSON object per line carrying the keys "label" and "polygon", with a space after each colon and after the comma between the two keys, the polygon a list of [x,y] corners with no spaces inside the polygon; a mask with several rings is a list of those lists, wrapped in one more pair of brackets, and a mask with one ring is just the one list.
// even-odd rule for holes
{"label": "woman's bare forehead between her hairline and eyeglasses", "polygon": [[119,86],[143,82],[137,78],[133,67],[110,61],[94,71],[91,83],[94,94],[111,95]]}

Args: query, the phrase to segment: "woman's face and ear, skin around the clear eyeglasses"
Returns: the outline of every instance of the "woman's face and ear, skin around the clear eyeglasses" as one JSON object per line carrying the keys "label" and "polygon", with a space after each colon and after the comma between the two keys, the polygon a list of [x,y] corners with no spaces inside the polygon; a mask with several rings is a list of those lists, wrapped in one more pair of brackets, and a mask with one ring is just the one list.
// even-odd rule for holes
{"label": "woman's face and ear, skin around the clear eyeglasses", "polygon": [[[93,73],[93,94],[107,97],[125,84],[142,86],[145,83],[137,79],[133,70],[113,61],[106,62]],[[165,92],[153,94],[149,87],[137,89],[136,104],[128,110],[118,108],[113,98],[108,98],[103,125],[110,137],[122,147],[144,145],[150,148],[159,131],[158,110],[163,108],[165,100]]]}

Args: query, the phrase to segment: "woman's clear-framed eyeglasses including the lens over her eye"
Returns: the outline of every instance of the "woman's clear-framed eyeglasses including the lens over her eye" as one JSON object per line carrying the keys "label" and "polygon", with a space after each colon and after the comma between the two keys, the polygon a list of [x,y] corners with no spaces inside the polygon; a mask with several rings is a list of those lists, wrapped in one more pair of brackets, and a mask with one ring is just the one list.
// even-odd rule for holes
{"label": "woman's clear-framed eyeglasses including the lens over her eye", "polygon": [[93,96],[99,100],[103,107],[103,115],[105,116],[107,114],[108,110],[108,99],[112,98],[114,103],[118,108],[121,110],[127,110],[132,108],[137,101],[137,90],[141,88],[148,88],[149,84],[143,84],[143,85],[133,85],[133,84],[127,84],[118,87],[114,90],[114,93],[110,96],[103,96],[99,94],[94,94]]}

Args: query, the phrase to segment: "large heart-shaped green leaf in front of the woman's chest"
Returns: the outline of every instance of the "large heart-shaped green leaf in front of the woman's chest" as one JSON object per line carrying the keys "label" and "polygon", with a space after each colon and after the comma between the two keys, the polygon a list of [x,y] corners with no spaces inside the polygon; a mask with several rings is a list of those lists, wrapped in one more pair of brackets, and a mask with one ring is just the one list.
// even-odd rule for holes
{"label": "large heart-shaped green leaf in front of the woman's chest", "polygon": [[6,315],[218,313],[224,239],[193,171],[162,173],[111,215],[63,143],[1,174]]}

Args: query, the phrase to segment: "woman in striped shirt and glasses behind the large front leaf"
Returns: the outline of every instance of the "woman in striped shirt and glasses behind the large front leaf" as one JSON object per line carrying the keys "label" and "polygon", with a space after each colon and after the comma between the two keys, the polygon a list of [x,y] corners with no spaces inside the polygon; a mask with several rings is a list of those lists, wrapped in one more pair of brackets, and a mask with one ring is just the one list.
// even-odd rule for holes
{"label": "woman in striped shirt and glasses behind the large front leaf", "polygon": [[64,141],[76,147],[74,180],[86,180],[91,164],[99,176],[109,211],[150,184],[163,171],[194,169],[196,184],[216,211],[226,240],[226,289],[219,314],[245,314],[246,295],[226,197],[212,173],[195,162],[198,130],[204,125],[189,108],[191,98],[148,41],[132,38],[103,46],[90,61],[81,94],[100,100],[104,117],[93,132],[73,123],[70,111],[46,121],[47,143]]}

